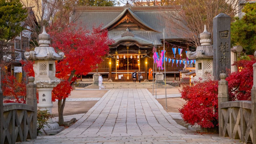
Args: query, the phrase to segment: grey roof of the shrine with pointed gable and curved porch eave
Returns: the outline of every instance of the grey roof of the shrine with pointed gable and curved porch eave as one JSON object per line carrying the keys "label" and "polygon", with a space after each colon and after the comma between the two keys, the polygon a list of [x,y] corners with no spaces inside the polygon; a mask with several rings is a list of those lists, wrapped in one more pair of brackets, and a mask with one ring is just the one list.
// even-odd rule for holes
{"label": "grey roof of the shrine with pointed gable and curved porch eave", "polygon": [[[99,26],[102,24],[103,28],[108,28],[118,20],[120,20],[127,11],[140,24],[143,24],[145,29],[132,29],[130,31],[140,37],[136,39],[138,42],[147,43],[155,42],[157,45],[162,45],[163,29],[165,29],[165,39],[184,39],[186,38],[184,32],[179,31],[174,25],[171,25],[168,18],[168,13],[173,10],[173,6],[131,6],[131,7],[88,7],[80,6],[74,7],[72,19],[87,29],[92,26]],[[167,15],[168,13],[168,15]],[[184,25],[185,27],[185,25]],[[109,38],[116,40],[124,40],[124,37],[116,38],[119,34],[125,32],[125,29],[110,29]],[[138,38],[137,37],[137,38]],[[127,37],[128,38],[128,37]]]}

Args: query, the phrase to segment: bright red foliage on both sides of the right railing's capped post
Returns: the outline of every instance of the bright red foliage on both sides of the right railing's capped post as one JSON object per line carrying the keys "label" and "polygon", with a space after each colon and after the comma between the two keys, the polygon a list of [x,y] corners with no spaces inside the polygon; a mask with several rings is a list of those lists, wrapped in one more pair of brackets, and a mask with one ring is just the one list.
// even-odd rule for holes
{"label": "bright red foliage on both sides of the right railing's capped post", "polygon": [[[228,73],[226,80],[229,87],[229,100],[251,100],[253,85],[254,56],[250,60],[239,60],[234,63],[239,71]],[[184,121],[191,125],[211,128],[218,126],[218,81],[198,81],[195,85],[180,90],[182,98],[187,102],[179,109]]]}

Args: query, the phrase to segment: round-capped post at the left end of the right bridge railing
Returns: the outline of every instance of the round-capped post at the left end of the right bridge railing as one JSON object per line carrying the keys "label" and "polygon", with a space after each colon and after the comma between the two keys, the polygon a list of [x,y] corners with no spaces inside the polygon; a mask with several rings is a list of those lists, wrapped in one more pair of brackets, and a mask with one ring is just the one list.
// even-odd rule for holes
{"label": "round-capped post at the left end of the right bridge railing", "polygon": [[219,136],[223,135],[224,117],[221,112],[220,104],[228,102],[228,81],[226,81],[227,75],[225,73],[220,74],[220,81],[218,82],[218,112],[219,112]]}

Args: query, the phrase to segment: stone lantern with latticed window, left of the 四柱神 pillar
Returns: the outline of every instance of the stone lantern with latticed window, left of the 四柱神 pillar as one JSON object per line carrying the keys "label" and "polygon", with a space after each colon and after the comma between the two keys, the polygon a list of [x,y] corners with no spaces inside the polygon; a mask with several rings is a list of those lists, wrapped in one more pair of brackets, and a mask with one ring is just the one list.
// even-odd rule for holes
{"label": "stone lantern with latticed window, left of the \u56db\u67f1\u795e pillar", "polygon": [[196,76],[195,80],[213,79],[213,46],[211,45],[211,33],[206,30],[200,34],[201,46],[196,48],[195,52],[188,51],[188,59],[196,59]]}

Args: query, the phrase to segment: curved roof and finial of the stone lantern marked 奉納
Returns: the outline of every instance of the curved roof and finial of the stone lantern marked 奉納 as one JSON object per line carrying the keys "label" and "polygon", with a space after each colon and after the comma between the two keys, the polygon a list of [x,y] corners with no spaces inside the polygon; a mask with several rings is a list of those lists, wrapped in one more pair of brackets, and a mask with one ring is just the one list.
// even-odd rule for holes
{"label": "curved roof and finial of the stone lantern marked \u5949\u7d0d", "polygon": [[46,33],[45,26],[43,26],[43,32],[38,35],[38,38],[39,47],[36,47],[35,51],[24,53],[27,60],[61,60],[63,58],[63,52],[58,54],[53,47],[49,47],[50,35]]}

